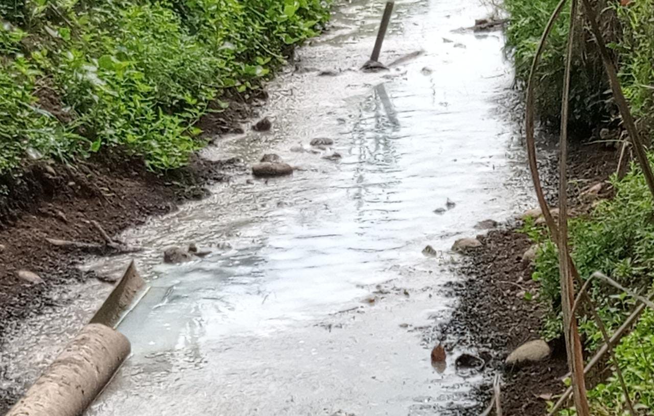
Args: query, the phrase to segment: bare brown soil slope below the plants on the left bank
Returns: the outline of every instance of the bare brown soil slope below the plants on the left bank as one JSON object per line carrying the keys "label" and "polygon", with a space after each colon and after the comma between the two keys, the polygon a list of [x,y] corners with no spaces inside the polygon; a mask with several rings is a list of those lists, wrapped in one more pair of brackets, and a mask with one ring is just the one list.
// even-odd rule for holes
{"label": "bare brown soil slope below the plants on the left bank", "polygon": [[[206,136],[214,137],[242,131],[241,123],[253,115],[252,107],[240,102],[199,124]],[[25,319],[60,302],[52,298],[55,287],[95,277],[78,269],[84,255],[116,252],[92,221],[115,236],[147,217],[171,212],[184,200],[205,197],[206,185],[244,172],[245,165],[238,159],[194,158],[186,168],[157,176],[146,170],[141,159],[113,150],[74,167],[39,161],[26,167],[20,178],[0,178],[0,185],[9,189],[0,196],[0,351],[7,335],[20,330]],[[63,248],[46,238],[97,248]],[[22,270],[37,274],[43,283],[21,280]],[[24,387],[0,366],[0,414]]]}

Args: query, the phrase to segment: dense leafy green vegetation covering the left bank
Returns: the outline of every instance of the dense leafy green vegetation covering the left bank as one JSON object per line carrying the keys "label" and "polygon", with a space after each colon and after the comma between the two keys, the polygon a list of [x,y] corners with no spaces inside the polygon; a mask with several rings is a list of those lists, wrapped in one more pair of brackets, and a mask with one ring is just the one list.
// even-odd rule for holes
{"label": "dense leafy green vegetation covering the left bank", "polygon": [[177,168],[227,89],[257,89],[329,18],[320,0],[0,0],[0,174],[105,146]]}

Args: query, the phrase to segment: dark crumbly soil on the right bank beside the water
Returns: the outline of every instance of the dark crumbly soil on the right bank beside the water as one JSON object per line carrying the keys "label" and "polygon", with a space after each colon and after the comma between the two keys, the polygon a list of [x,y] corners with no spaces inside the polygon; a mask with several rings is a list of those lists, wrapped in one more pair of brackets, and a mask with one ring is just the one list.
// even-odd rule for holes
{"label": "dark crumbly soil on the right bank beside the water", "polygon": [[[602,182],[617,167],[617,153],[602,144],[577,145],[571,149],[570,203],[583,212],[588,201],[580,196],[587,187]],[[542,180],[548,199],[557,200],[556,157],[542,163]],[[574,179],[574,180],[573,180]],[[602,197],[610,197],[604,185]],[[532,264],[522,256],[532,242],[517,232],[520,221],[479,236],[482,246],[470,249],[460,271],[467,278],[453,283],[451,289],[460,304],[445,334],[460,337],[460,342],[479,350],[492,351],[487,368],[489,375],[502,373],[502,410],[509,416],[542,416],[546,399],[564,391],[561,377],[568,371],[564,343],[550,343],[553,354],[539,364],[519,369],[504,368],[507,355],[526,341],[540,338],[542,317],[547,310],[537,300],[526,300],[525,293],[536,295],[538,283],[531,279]],[[479,397],[489,402],[491,378],[480,389]]]}

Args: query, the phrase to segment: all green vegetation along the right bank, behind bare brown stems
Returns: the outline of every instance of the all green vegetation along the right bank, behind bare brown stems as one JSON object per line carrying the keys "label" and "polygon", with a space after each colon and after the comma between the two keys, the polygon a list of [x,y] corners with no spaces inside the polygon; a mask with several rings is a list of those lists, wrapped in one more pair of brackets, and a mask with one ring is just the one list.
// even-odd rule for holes
{"label": "all green vegetation along the right bank, behind bare brown stems", "polygon": [[[519,80],[526,80],[540,35],[558,0],[505,0],[510,14],[507,44],[513,51]],[[640,129],[654,133],[654,0],[594,2],[602,8],[602,29],[610,42],[619,76]],[[544,120],[557,120],[560,109],[563,59],[570,19],[566,10],[555,25],[538,69],[538,111]],[[585,22],[584,22],[585,24]],[[596,125],[613,123],[617,111],[607,91],[604,69],[585,28],[577,40],[571,91],[572,121]],[[558,121],[558,120],[557,120]],[[649,155],[654,161],[654,153]],[[654,287],[654,203],[642,172],[632,165],[625,178],[611,178],[615,197],[600,202],[583,217],[570,219],[572,258],[581,278],[600,271],[641,293]],[[562,335],[559,259],[544,227],[528,219],[522,232],[539,243],[533,278],[540,282],[539,301],[549,315],[543,335]],[[578,287],[577,287],[578,289]],[[589,293],[609,332],[617,328],[634,300],[602,281],[593,281]],[[577,311],[579,330],[587,351],[602,344],[602,334],[585,310]],[[615,349],[632,400],[643,414],[654,411],[654,311],[647,310],[634,330]],[[589,391],[593,415],[626,415],[623,391],[615,374]],[[561,414],[572,415],[568,409]]]}

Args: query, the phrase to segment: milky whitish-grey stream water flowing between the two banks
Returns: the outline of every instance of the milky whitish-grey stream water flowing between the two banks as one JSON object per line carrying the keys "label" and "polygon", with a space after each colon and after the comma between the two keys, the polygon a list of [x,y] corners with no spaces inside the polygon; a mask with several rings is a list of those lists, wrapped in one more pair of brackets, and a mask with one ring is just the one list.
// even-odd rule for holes
{"label": "milky whitish-grey stream water flowing between the two banks", "polygon": [[[357,71],[382,8],[339,6],[332,30],[269,86],[261,112],[273,131],[221,138],[204,153],[247,163],[278,153],[298,167],[293,176],[235,178],[124,234],[145,248],[135,259],[151,289],[119,328],[133,355],[88,415],[441,415],[475,406],[470,391],[483,375],[458,371],[464,351],[439,334],[456,304],[442,285],[457,278],[456,238],[532,202],[519,135],[502,109],[513,74],[499,32],[462,29],[488,14],[477,0],[396,1],[381,60],[422,53],[388,72]],[[315,137],[334,146],[291,151]],[[332,152],[342,157],[322,158]],[[163,248],[188,242],[211,253],[161,264]],[[422,255],[426,244],[438,255]],[[116,274],[128,261],[88,267]],[[432,368],[439,340],[452,350],[445,368]]]}

